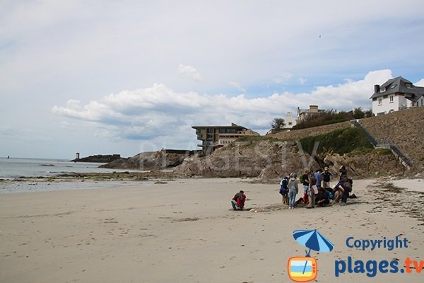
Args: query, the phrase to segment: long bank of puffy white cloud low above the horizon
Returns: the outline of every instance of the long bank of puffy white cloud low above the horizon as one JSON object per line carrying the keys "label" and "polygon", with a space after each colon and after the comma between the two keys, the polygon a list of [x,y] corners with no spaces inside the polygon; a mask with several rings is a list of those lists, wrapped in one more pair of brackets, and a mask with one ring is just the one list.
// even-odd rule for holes
{"label": "long bank of puffy white cloud low above the horizon", "polygon": [[177,92],[155,84],[112,93],[86,105],[69,100],[64,106],[54,105],[52,112],[88,122],[86,127],[94,127],[103,137],[188,143],[195,138],[194,125],[235,122],[264,133],[274,117],[285,117],[286,112],[296,112],[298,107],[307,108],[310,104],[321,109],[370,109],[373,86],[391,77],[390,70],[370,71],[359,81],[346,79],[337,86],[319,86],[310,93],[273,93],[262,98]]}

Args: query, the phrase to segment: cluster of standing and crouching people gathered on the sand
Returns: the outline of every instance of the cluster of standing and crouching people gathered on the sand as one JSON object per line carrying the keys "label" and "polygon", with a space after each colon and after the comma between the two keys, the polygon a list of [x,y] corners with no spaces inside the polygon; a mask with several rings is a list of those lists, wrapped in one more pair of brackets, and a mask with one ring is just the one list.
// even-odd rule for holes
{"label": "cluster of standing and crouching people gathered on the sand", "polygon": [[[346,205],[349,193],[352,191],[351,179],[345,166],[339,168],[338,183],[334,187],[330,186],[333,174],[329,168],[325,167],[324,171],[318,169],[315,172],[309,170],[298,179],[297,173],[286,175],[280,181],[280,194],[283,197],[283,204],[288,204],[288,209],[294,209],[295,204],[303,202],[307,209],[315,206],[324,207],[331,203],[340,203]],[[299,184],[303,188],[303,196],[296,201],[296,195],[299,193]]]}

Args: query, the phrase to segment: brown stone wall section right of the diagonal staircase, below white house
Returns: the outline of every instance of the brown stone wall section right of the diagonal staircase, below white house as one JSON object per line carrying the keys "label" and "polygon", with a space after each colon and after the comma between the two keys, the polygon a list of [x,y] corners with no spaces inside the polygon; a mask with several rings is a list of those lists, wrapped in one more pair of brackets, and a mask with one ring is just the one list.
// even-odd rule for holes
{"label": "brown stone wall section right of the diagonal staircase, below white house", "polygon": [[424,165],[424,107],[396,111],[360,120],[377,141],[390,141],[411,158],[420,170]]}

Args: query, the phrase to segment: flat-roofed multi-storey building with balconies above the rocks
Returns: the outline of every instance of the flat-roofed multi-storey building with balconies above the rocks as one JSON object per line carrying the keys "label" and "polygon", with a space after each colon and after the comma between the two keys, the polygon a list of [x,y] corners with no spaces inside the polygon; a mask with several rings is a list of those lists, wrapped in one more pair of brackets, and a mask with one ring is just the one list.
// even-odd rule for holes
{"label": "flat-roofed multi-storey building with balconies above the rocks", "polygon": [[231,126],[193,126],[196,129],[197,139],[202,141],[198,146],[201,150],[212,152],[219,146],[232,143],[239,137],[259,136],[258,132],[231,123]]}

